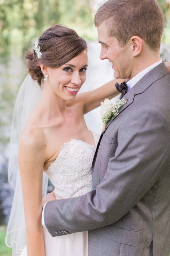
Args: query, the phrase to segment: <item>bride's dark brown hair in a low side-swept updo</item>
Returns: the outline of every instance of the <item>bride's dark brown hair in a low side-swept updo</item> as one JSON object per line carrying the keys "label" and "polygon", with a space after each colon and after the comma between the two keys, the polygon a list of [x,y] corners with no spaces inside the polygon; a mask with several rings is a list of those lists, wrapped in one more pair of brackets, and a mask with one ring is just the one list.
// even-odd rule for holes
{"label": "bride's dark brown hair in a low side-swept updo", "polygon": [[47,67],[60,67],[87,49],[86,41],[70,28],[63,25],[54,25],[47,29],[39,38],[38,45],[42,53],[38,59],[35,50],[27,51],[27,67],[32,79],[39,85],[43,82],[44,75],[39,63]]}

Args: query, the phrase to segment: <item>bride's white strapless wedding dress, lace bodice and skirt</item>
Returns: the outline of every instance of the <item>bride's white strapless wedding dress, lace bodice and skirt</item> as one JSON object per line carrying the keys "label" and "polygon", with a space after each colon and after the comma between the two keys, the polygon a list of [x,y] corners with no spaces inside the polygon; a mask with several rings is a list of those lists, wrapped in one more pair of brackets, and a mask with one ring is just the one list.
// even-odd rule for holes
{"label": "bride's white strapless wedding dress, lace bodice and skirt", "polygon": [[[71,139],[46,173],[54,185],[57,200],[78,197],[91,191],[91,166],[100,135],[92,132],[95,146]],[[46,256],[88,256],[88,231],[52,237],[43,227]],[[21,256],[26,256],[22,252]]]}

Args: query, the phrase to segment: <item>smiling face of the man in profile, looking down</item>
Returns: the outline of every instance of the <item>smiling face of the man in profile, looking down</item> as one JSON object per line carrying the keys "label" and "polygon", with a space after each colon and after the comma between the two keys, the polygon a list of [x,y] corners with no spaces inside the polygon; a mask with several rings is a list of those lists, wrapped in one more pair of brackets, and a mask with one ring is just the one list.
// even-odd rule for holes
{"label": "smiling face of the man in profile, looking down", "polygon": [[129,42],[121,47],[114,36],[109,36],[105,23],[98,30],[98,41],[101,44],[100,59],[108,59],[115,71],[115,78],[129,78],[132,74],[132,46]]}

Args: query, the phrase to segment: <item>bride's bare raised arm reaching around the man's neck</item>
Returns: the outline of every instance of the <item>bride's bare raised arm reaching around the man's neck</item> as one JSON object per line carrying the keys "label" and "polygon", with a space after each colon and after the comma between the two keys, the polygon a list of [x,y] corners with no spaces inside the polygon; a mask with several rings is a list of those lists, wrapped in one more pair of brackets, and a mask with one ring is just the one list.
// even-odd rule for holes
{"label": "bride's bare raised arm reaching around the man's neck", "polygon": [[100,102],[104,101],[105,98],[111,99],[118,95],[119,92],[116,90],[115,83],[118,82],[120,84],[124,81],[125,79],[114,79],[93,91],[80,93],[77,95],[76,101],[84,106],[84,114],[86,114],[100,106]]}

